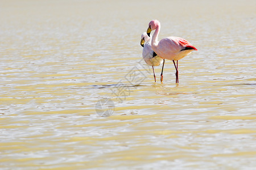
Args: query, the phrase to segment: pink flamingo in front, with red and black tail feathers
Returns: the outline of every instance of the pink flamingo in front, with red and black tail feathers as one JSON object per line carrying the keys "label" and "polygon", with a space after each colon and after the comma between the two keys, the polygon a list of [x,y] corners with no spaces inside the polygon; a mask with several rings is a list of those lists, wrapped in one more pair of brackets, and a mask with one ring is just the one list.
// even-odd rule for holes
{"label": "pink flamingo in front, with red and black tail feathers", "polygon": [[[151,20],[148,24],[147,35],[150,36],[150,32],[155,30],[152,40],[151,46],[156,54],[158,54],[161,58],[163,58],[163,67],[164,67],[164,59],[170,59],[174,62],[174,66],[176,69],[176,83],[179,83],[179,71],[178,71],[178,61],[179,59],[187,56],[193,50],[197,50],[195,46],[191,45],[187,40],[182,39],[180,37],[166,37],[160,41],[158,41],[158,34],[160,31],[160,22],[158,20]],[[177,61],[177,65],[175,64]],[[163,67],[161,73],[161,82],[163,82]]]}

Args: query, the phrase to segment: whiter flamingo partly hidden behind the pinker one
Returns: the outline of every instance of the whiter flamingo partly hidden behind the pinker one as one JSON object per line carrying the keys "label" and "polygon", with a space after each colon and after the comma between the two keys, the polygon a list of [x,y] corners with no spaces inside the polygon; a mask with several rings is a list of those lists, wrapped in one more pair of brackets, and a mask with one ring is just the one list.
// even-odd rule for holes
{"label": "whiter flamingo partly hidden behind the pinker one", "polygon": [[141,46],[143,47],[142,57],[144,61],[147,63],[147,65],[152,66],[155,79],[154,66],[159,66],[160,64],[162,64],[163,59],[157,56],[157,54],[152,50],[151,37],[149,37],[146,32],[143,32],[141,35]]}

